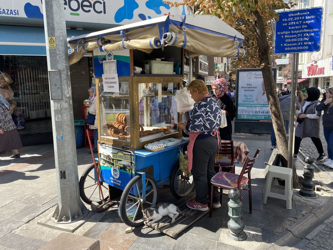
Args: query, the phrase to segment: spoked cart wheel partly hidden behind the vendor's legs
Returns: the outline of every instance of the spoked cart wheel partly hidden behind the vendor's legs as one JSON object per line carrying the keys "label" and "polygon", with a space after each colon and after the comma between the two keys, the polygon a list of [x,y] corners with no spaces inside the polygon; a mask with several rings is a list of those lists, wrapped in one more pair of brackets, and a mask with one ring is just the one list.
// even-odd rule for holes
{"label": "spoked cart wheel partly hidden behind the vendor's legs", "polygon": [[179,164],[172,169],[170,176],[170,191],[173,197],[181,199],[194,190],[194,180],[191,173],[185,174],[179,170]]}

